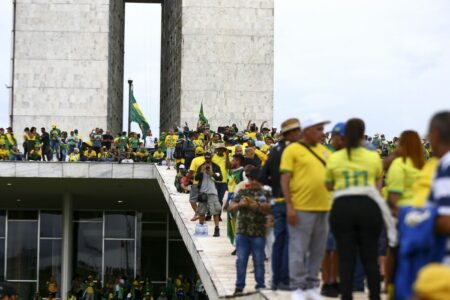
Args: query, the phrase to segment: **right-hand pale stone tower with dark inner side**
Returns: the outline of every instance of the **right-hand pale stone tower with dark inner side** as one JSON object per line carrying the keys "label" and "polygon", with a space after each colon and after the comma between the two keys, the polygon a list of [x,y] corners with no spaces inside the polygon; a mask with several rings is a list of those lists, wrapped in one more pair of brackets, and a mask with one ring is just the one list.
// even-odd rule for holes
{"label": "right-hand pale stone tower with dark inner side", "polygon": [[[161,120],[171,122],[162,122],[161,128],[165,130],[184,122],[195,126],[202,101],[212,128],[231,123],[242,128],[249,120],[258,126],[267,120],[270,126],[273,120],[273,0],[183,0],[181,20],[182,36],[173,35],[176,49],[171,50],[176,54],[181,41],[181,61],[174,61],[181,64],[180,104],[177,94],[172,97],[162,94],[161,108],[165,108],[161,110]],[[164,41],[163,34],[162,53],[167,55],[165,50],[172,44],[165,45]],[[162,71],[164,74],[165,70]],[[172,68],[169,73],[173,71],[178,70]],[[163,75],[163,80],[166,77]],[[174,88],[177,89],[177,85],[176,81]],[[165,116],[170,111],[168,105],[173,114],[170,117]],[[178,111],[181,112],[179,117]]]}

